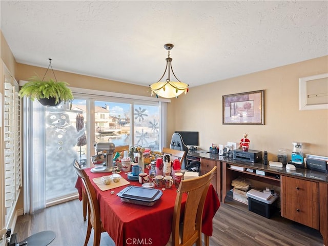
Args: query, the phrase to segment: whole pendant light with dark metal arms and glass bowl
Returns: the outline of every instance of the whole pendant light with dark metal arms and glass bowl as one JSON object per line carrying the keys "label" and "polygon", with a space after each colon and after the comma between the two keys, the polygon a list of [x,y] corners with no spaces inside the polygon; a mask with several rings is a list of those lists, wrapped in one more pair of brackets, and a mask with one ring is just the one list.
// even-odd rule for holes
{"label": "whole pendant light with dark metal arms and glass bowl", "polygon": [[[178,97],[182,92],[185,92],[185,94],[187,94],[187,92],[189,91],[189,85],[181,82],[175,76],[172,69],[172,58],[170,57],[170,50],[172,50],[173,45],[166,44],[164,45],[164,48],[168,50],[168,58],[166,58],[166,68],[161,78],[156,83],[149,86],[152,90],[151,96],[155,94],[156,98],[158,98],[158,96],[164,98],[172,98],[172,97]],[[168,71],[167,79],[165,81],[161,81],[161,79],[165,76],[167,71]],[[170,77],[171,72],[177,81],[171,81],[171,77]]]}

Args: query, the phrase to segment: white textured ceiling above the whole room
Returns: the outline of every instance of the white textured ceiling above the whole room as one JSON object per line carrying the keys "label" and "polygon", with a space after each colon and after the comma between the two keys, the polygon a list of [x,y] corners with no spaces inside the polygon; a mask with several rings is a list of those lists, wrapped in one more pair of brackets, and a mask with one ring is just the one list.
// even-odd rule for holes
{"label": "white textured ceiling above the whole room", "polygon": [[328,55],[328,1],[1,1],[18,63],[190,87]]}

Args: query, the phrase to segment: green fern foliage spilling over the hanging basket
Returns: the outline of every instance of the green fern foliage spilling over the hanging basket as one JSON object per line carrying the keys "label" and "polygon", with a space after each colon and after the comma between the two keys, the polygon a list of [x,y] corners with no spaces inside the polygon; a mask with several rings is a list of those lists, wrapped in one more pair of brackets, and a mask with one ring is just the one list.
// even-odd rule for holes
{"label": "green fern foliage spilling over the hanging basket", "polygon": [[55,98],[55,103],[58,104],[60,101],[66,102],[74,99],[72,91],[67,86],[69,84],[64,81],[55,81],[51,78],[43,81],[35,76],[19,90],[18,95],[29,97],[33,101],[35,98],[38,100]]}

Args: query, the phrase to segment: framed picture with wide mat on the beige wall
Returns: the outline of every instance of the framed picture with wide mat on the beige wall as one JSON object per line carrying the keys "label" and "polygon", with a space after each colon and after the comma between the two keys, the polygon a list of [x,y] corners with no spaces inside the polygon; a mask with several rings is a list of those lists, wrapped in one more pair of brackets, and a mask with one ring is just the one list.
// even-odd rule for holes
{"label": "framed picture with wide mat on the beige wall", "polygon": [[264,90],[222,96],[223,125],[264,125]]}

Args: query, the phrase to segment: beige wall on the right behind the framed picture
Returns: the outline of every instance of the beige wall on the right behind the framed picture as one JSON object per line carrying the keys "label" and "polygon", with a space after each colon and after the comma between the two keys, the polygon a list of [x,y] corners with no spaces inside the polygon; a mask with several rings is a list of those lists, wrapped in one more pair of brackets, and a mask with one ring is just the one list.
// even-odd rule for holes
{"label": "beige wall on the right behind the framed picture", "polygon": [[[209,71],[210,72],[210,71]],[[199,131],[200,147],[239,142],[249,134],[250,149],[267,150],[269,160],[279,148],[292,152],[292,141],[304,153],[328,156],[328,110],[299,110],[299,78],[327,73],[328,56],[192,87],[169,105],[168,138],[174,131]],[[327,85],[328,86],[328,85]],[[264,126],[222,125],[222,95],[264,90]],[[169,143],[168,143],[169,144]]]}

